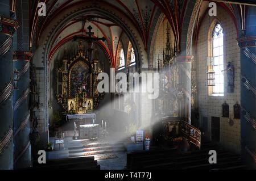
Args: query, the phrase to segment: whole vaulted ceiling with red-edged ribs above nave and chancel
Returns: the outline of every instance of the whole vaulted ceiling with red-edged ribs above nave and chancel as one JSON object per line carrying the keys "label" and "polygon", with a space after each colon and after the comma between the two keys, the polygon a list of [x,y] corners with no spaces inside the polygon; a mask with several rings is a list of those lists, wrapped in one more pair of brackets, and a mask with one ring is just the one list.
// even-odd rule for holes
{"label": "whole vaulted ceiling with red-edged ribs above nave and chancel", "polygon": [[[154,31],[155,22],[159,18],[159,12],[163,13],[171,24],[178,49],[180,49],[181,32],[184,19],[186,18],[186,11],[193,10],[193,7],[188,7],[189,0],[44,0],[46,3],[46,16],[38,16],[38,2],[39,0],[35,0],[31,2],[30,5],[30,22],[32,22],[30,25],[31,47],[33,44],[39,44],[40,39],[44,36],[43,32],[47,31],[47,28],[55,28],[52,26],[52,22],[54,22],[55,19],[60,16],[67,16],[67,11],[69,10],[70,13],[68,13],[68,15],[74,14],[75,8],[84,7],[88,4],[86,7],[101,6],[105,8],[106,11],[109,11],[114,16],[119,16],[119,20],[128,23],[127,27],[135,28],[133,31],[135,36],[130,37],[130,39],[137,41],[139,37],[143,44],[141,47],[145,50],[148,48],[148,41],[151,40],[152,30]],[[222,5],[226,6],[226,8],[232,12],[232,6],[230,4],[222,3]],[[200,19],[203,14],[205,14],[206,10],[207,7],[205,3],[205,5],[201,7],[201,11],[197,17],[196,28],[199,28]],[[123,20],[122,17],[127,20]],[[85,19],[89,19],[89,21],[82,25]],[[51,42],[49,58],[52,57],[52,54],[55,53],[55,50],[58,49],[61,44],[71,40],[74,35],[85,35],[86,31],[88,31],[86,28],[90,25],[93,27],[94,36],[106,37],[106,41],[100,44],[101,47],[105,49],[105,52],[107,52],[110,61],[115,65],[118,43],[121,41],[121,36],[125,35],[127,32],[125,32],[120,24],[113,21],[113,18],[92,11],[63,22],[64,27],[60,28],[60,30],[55,33],[53,37],[54,40]]]}

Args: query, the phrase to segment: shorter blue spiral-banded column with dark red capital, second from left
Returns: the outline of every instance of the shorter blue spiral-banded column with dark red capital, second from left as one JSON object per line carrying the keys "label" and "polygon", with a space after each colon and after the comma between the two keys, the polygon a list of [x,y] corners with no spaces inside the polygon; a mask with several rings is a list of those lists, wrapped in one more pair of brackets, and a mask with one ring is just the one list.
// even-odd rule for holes
{"label": "shorter blue spiral-banded column with dark red capital, second from left", "polygon": [[30,52],[14,52],[14,168],[31,166]]}

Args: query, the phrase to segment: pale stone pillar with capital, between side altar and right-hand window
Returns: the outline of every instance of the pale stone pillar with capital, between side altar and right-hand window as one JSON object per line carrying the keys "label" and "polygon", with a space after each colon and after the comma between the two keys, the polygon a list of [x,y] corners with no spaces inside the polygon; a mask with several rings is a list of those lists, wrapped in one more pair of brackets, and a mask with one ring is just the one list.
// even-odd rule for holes
{"label": "pale stone pillar with capital, between side altar and right-hand window", "polygon": [[179,66],[178,98],[181,99],[181,95],[183,96],[179,116],[189,124],[191,124],[191,58],[191,56],[178,56],[176,60]]}

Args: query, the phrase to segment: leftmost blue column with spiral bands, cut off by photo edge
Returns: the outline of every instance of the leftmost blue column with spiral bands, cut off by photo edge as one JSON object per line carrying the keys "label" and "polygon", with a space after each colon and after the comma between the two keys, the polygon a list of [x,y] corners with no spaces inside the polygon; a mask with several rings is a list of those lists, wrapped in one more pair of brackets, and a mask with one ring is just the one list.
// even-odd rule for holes
{"label": "leftmost blue column with spiral bands, cut off by photo edge", "polygon": [[13,34],[10,2],[0,2],[0,169],[13,169]]}

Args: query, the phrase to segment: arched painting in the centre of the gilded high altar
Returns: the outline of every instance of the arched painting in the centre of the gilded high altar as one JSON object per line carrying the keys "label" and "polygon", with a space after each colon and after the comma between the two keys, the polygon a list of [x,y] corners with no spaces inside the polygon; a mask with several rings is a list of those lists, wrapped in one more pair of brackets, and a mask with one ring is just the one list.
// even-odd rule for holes
{"label": "arched painting in the centre of the gilded high altar", "polygon": [[69,96],[75,97],[77,90],[84,87],[86,94],[90,94],[90,73],[88,66],[78,61],[69,72]]}

